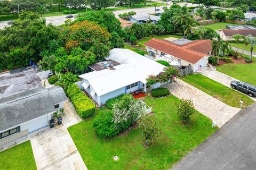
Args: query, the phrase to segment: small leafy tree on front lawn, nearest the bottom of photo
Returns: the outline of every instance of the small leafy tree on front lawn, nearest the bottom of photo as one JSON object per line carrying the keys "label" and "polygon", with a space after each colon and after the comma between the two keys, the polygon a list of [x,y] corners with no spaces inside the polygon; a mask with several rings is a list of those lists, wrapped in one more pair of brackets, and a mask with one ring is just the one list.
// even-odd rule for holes
{"label": "small leafy tree on front lawn, nearest the bottom of photo", "polygon": [[142,141],[146,146],[152,145],[161,134],[161,129],[154,116],[142,116],[139,120]]}

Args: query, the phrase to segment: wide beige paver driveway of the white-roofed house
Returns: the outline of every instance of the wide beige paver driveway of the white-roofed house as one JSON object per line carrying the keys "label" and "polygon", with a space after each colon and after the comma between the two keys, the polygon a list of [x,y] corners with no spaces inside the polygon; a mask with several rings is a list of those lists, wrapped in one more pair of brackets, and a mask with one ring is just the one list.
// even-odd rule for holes
{"label": "wide beige paver driveway of the white-roofed house", "polygon": [[196,110],[216,122],[219,127],[241,110],[222,103],[180,79],[175,79],[175,82],[168,83],[165,87],[180,99],[191,99]]}

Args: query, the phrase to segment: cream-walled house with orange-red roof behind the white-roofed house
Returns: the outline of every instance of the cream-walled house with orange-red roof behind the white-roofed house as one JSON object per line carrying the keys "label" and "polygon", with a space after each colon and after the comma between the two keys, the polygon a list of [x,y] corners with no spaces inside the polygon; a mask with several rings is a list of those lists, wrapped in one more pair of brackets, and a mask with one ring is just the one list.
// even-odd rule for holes
{"label": "cream-walled house with orange-red roof behind the white-roofed house", "polygon": [[209,56],[212,56],[211,40],[190,41],[182,38],[170,42],[153,38],[144,45],[149,55],[170,55],[182,66],[191,65],[193,72],[206,67]]}

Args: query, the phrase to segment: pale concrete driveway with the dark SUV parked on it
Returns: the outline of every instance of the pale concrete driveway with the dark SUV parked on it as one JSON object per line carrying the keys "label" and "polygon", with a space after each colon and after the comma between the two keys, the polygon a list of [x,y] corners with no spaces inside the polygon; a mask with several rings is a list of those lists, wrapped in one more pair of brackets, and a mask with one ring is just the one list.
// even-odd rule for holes
{"label": "pale concrete driveway with the dark SUV parked on it", "polygon": [[[210,78],[212,80],[215,80],[215,81],[217,81],[217,82],[219,82],[219,83],[221,83],[221,84],[223,84],[223,85],[225,85],[225,86],[227,86],[229,88],[231,88],[230,87],[230,82],[233,81],[233,80],[237,80],[237,79],[235,79],[233,77],[230,77],[230,76],[228,76],[226,74],[223,74],[221,72],[213,70],[213,69],[211,69],[209,67],[204,67],[204,69],[202,71],[200,71],[199,73],[201,73],[201,74],[205,75],[206,77],[208,77],[208,78]],[[237,80],[237,81],[239,81],[239,80]],[[238,92],[240,92],[241,94],[244,94],[241,91],[238,91]],[[248,96],[247,94],[244,94],[244,95]],[[250,97],[250,96],[248,96],[248,97],[251,98],[252,100],[256,101],[255,97]]]}

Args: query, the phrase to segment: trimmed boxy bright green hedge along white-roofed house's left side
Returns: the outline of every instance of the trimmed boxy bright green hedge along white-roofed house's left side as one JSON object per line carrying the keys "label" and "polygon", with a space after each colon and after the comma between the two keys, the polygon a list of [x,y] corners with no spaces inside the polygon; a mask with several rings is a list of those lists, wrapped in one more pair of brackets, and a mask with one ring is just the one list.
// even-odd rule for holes
{"label": "trimmed boxy bright green hedge along white-roofed house's left side", "polygon": [[67,95],[72,101],[78,115],[82,118],[91,117],[95,112],[95,105],[92,103],[76,84],[68,87]]}

